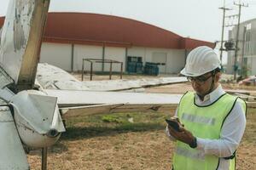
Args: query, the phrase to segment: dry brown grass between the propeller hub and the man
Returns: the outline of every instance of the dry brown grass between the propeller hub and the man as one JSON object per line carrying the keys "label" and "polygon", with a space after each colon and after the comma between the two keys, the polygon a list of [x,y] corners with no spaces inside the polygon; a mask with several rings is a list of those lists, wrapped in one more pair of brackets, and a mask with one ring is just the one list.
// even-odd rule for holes
{"label": "dry brown grass between the propeller hub and the man", "polygon": [[[113,116],[120,122],[102,122],[102,116],[68,122],[67,133],[49,149],[49,169],[170,169],[172,143],[163,131],[168,115]],[[28,158],[32,169],[40,169],[38,152]]]}

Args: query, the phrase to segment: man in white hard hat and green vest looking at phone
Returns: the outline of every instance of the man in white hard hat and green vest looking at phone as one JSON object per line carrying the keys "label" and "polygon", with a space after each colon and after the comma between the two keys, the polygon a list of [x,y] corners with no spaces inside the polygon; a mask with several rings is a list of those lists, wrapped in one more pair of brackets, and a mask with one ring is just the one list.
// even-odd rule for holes
{"label": "man in white hard hat and green vest looking at phone", "polygon": [[206,46],[193,49],[181,74],[194,92],[183,95],[175,117],[179,131],[166,127],[176,142],[174,170],[235,170],[236,149],[246,127],[246,104],[218,83],[220,61]]}

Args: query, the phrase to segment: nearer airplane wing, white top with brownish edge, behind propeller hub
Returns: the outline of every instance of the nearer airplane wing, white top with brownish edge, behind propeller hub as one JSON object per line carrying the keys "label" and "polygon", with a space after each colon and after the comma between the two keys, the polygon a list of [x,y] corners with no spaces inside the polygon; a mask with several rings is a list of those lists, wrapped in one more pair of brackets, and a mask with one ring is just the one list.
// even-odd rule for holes
{"label": "nearer airplane wing, white top with brownish edge, behind propeller hub", "polygon": [[90,92],[44,89],[58,98],[62,117],[88,116],[114,112],[171,111],[177,107],[181,94],[141,94],[122,92]]}

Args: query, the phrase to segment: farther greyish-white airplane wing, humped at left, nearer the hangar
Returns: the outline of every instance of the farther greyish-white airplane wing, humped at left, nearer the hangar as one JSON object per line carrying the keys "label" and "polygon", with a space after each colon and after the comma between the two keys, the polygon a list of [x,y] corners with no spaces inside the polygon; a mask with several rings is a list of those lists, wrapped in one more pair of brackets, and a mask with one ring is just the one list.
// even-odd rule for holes
{"label": "farther greyish-white airplane wing, humped at left, nearer the hangar", "polygon": [[186,77],[143,78],[137,80],[84,81],[54,65],[38,64],[38,83],[46,89],[86,90],[86,91],[124,91],[138,88],[162,86],[177,82],[187,82]]}

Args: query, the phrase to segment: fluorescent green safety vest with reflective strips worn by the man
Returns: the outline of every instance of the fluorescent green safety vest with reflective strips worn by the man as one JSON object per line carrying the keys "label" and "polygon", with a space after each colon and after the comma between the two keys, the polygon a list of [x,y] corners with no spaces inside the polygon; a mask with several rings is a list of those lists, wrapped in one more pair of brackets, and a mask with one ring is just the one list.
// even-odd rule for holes
{"label": "fluorescent green safety vest with reflective strips worn by the man", "polygon": [[[195,104],[195,94],[188,92],[183,95],[177,116],[184,127],[195,137],[201,139],[219,139],[225,118],[230,114],[236,102],[240,102],[246,112],[245,102],[230,94],[224,94],[211,105],[199,106]],[[239,125],[237,125],[239,126]],[[235,170],[236,154],[230,160],[229,170]],[[192,149],[189,144],[177,140],[173,156],[174,170],[216,170],[219,157],[204,155],[201,150]]]}

